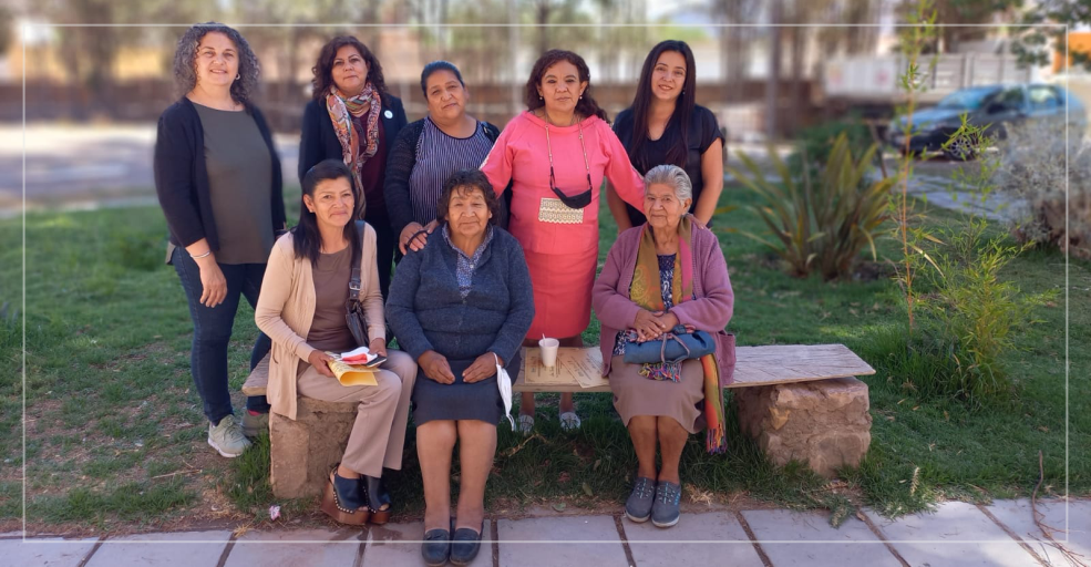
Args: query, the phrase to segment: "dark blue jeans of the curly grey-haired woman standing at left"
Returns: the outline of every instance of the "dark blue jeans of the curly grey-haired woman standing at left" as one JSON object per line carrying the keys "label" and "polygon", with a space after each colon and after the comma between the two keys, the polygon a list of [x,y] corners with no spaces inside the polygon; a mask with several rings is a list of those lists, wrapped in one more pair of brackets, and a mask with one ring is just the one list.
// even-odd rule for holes
{"label": "dark blue jeans of the curly grey-haired woman standing at left", "polygon": [[[265,264],[220,264],[219,269],[227,280],[227,297],[216,307],[200,303],[200,293],[204,290],[200,285],[200,268],[185,248],[179,246],[174,249],[171,264],[182,280],[182,289],[189,302],[189,318],[193,319],[193,348],[189,351],[193,383],[204,403],[205,416],[218,424],[225,416],[235,413],[227,385],[227,347],[231,340],[239,296],[246,297],[250,307],[257,305]],[[269,337],[259,332],[250,352],[250,370],[269,353],[271,347]],[[251,395],[246,400],[246,408],[267,413],[269,402],[264,395]]]}

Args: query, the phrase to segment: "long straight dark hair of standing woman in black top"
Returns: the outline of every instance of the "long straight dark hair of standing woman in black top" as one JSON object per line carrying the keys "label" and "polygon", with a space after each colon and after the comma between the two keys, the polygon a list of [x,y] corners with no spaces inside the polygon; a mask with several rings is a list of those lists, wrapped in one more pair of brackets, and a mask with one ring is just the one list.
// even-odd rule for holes
{"label": "long straight dark hair of standing woman in black top", "polygon": [[[648,58],[644,60],[644,68],[640,70],[640,82],[638,83],[639,86],[637,86],[637,96],[632,100],[632,138],[629,140],[629,147],[626,150],[629,151],[629,161],[634,164],[642,161],[640,150],[644,147],[645,142],[648,141],[648,112],[651,110],[651,99],[653,96],[651,94],[651,73],[656,69],[656,62],[659,61],[659,55],[662,55],[665,51],[680,53],[686,59],[686,80],[682,82],[682,93],[675,101],[675,112],[667,122],[668,126],[671,122],[678,124],[678,138],[666,140],[670,147],[667,151],[667,163],[686,167],[686,156],[689,153],[689,121],[693,115],[693,107],[697,105],[697,70],[694,69],[693,51],[689,49],[689,45],[685,41],[661,41],[655,48],[651,48]],[[668,135],[667,132],[665,128],[663,135]],[[640,164],[639,166],[647,168],[651,165],[658,164]]]}

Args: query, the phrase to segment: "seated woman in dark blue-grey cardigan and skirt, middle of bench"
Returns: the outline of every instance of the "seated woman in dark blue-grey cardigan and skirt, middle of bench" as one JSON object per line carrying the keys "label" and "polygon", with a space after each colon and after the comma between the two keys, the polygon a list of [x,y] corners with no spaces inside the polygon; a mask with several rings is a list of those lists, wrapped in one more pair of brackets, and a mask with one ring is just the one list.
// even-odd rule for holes
{"label": "seated woman in dark blue-grey cardigan and skirt, middle of bench", "polygon": [[[498,203],[480,171],[444,182],[438,231],[398,265],[387,316],[398,342],[420,365],[413,389],[416,452],[424,477],[428,565],[469,565],[481,546],[485,481],[505,414],[496,367],[518,373],[519,347],[534,320],[523,249],[493,226]],[[462,474],[451,522],[451,454]],[[452,537],[449,528],[455,529]]]}

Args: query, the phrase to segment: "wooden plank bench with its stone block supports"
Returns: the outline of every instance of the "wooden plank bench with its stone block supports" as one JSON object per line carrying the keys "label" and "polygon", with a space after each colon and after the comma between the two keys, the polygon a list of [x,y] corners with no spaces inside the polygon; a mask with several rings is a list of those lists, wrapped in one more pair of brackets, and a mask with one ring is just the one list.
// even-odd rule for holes
{"label": "wooden plank bench with its stone block supports", "polygon": [[[572,349],[579,350],[579,349]],[[598,347],[583,349],[600,362]],[[742,431],[753,436],[776,465],[807,462],[823,475],[860,464],[871,443],[867,384],[854,377],[874,374],[866,362],[842,344],[739,347],[734,383],[735,414]],[[528,359],[526,352],[524,361]],[[586,369],[585,369],[586,370]],[[515,378],[516,392],[609,392],[609,385],[580,388],[526,383],[525,370]],[[246,395],[265,395],[269,359],[255,367],[243,384]],[[295,421],[269,416],[270,484],[278,498],[321,493],[330,467],[341,460],[356,420],[356,403],[300,398]]]}

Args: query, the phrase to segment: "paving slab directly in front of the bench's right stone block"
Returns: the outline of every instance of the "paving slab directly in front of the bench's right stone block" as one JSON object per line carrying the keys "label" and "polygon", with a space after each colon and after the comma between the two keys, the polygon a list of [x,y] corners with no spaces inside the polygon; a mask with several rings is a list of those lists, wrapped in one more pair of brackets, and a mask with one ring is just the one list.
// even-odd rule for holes
{"label": "paving slab directly in front of the bench's right stone block", "polygon": [[769,560],[776,567],[900,566],[867,524],[855,517],[846,519],[841,527],[831,526],[823,514],[786,509],[744,511],[742,517],[761,543]]}

